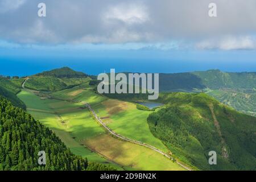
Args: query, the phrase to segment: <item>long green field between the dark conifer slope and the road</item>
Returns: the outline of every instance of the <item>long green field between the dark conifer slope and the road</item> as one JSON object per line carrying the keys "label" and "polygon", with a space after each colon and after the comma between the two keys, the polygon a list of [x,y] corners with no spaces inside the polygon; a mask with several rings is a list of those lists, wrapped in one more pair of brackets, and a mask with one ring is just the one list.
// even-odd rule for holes
{"label": "long green field between the dark conifer slope and the road", "polygon": [[[81,144],[80,140],[86,137],[105,133],[90,117],[88,110],[80,109],[82,105],[58,100],[40,100],[40,97],[24,90],[18,97],[27,105],[28,113],[53,130],[74,154],[86,157],[92,162],[109,163],[117,169],[122,169]],[[70,112],[65,110],[68,108]]]}

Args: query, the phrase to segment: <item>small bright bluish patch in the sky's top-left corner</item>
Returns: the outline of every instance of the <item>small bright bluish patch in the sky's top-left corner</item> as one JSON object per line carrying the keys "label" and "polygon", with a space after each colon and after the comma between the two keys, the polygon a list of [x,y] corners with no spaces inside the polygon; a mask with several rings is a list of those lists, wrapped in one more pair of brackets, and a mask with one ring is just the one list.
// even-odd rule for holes
{"label": "small bright bluish patch in the sky's top-left corner", "polygon": [[10,10],[16,10],[22,6],[27,0],[1,0],[0,13],[6,13]]}

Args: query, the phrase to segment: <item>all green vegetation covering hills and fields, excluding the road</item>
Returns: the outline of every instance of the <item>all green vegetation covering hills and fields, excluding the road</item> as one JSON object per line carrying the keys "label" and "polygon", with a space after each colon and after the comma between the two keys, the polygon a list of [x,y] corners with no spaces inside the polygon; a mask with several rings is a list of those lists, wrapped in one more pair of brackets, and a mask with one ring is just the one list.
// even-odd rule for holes
{"label": "all green vegetation covering hills and fields, excluding the road", "polygon": [[[204,93],[160,93],[158,102],[166,107],[155,110],[126,102],[146,100],[147,94],[98,94],[99,81],[91,77],[94,80],[64,67],[26,82],[26,88],[50,92],[20,92],[24,78],[0,78],[0,169],[183,169],[153,150],[107,134],[80,101],[89,103],[115,133],[150,144],[192,168],[256,169],[256,118],[217,101],[256,114],[255,73],[160,74],[162,92],[203,91],[217,100]],[[5,98],[23,109],[27,106],[44,126]],[[37,152],[43,148],[48,166],[37,163]],[[216,166],[208,164],[212,150],[217,152]]]}

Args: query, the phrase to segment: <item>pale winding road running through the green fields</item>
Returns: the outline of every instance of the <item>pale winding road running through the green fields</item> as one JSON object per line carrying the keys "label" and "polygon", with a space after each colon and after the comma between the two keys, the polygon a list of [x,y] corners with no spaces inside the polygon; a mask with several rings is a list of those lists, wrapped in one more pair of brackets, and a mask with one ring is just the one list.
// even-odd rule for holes
{"label": "pale winding road running through the green fields", "polygon": [[[26,89],[24,85],[26,84],[27,80],[29,80],[29,78],[27,78],[27,79],[23,82],[23,84],[22,84],[22,88],[23,88],[23,89]],[[54,98],[54,97],[51,97],[51,98]],[[54,98],[54,99],[56,99],[56,100],[62,100],[62,99],[59,99],[59,98]],[[62,101],[69,101],[69,102],[70,102],[70,100],[62,100]],[[92,107],[91,107],[88,103],[83,102],[83,101],[72,101],[72,102],[81,103],[81,104],[84,104],[86,107],[88,107],[88,109],[93,113],[94,118],[97,119],[97,121],[100,123],[100,125],[103,126],[106,131],[108,131],[110,134],[114,135],[115,137],[120,138],[120,139],[122,139],[122,140],[126,140],[127,142],[139,144],[140,146],[144,146],[144,147],[150,148],[151,150],[154,150],[154,151],[158,152],[159,154],[162,154],[162,155],[166,156],[166,158],[168,158],[168,159],[174,159],[174,158],[172,158],[170,155],[164,153],[163,151],[160,151],[158,148],[155,148],[155,147],[153,147],[153,146],[150,146],[149,144],[146,144],[146,143],[143,143],[143,142],[140,142],[140,141],[137,141],[137,140],[133,140],[133,139],[130,139],[130,138],[126,138],[126,137],[123,137],[122,135],[119,135],[119,134],[115,133],[115,132],[114,132],[113,130],[111,130],[108,126],[105,125],[105,123],[101,120],[100,117],[98,117],[98,115],[95,113],[95,111],[92,109]],[[185,166],[184,164],[182,164],[182,163],[180,163],[180,162],[178,162],[178,161],[176,161],[176,163],[179,164],[181,167],[187,169],[188,171],[192,171],[191,168]]]}

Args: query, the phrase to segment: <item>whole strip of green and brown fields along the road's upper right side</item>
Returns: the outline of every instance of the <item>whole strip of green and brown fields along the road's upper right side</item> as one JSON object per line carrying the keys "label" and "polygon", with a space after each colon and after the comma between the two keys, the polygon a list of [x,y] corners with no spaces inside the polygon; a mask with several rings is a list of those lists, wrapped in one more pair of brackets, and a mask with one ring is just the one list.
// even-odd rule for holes
{"label": "whole strip of green and brown fields along the road's upper right side", "polygon": [[167,147],[150,132],[147,117],[151,111],[138,110],[136,105],[131,102],[113,100],[101,96],[95,93],[89,85],[61,90],[60,92],[53,93],[52,96],[87,102],[96,111],[97,115],[101,117],[102,121],[116,133],[168,152]]}

